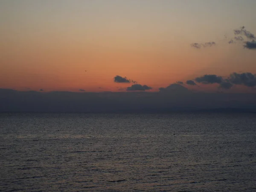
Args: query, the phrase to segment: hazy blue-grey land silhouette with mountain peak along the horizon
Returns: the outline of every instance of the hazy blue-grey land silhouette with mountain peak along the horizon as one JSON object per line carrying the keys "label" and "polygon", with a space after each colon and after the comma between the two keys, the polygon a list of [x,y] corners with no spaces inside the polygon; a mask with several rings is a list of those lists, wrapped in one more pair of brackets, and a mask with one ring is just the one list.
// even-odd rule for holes
{"label": "hazy blue-grey land silhouette with mountain peak along the horizon", "polygon": [[255,112],[255,93],[192,92],[180,84],[159,92],[65,92],[0,89],[0,112]]}

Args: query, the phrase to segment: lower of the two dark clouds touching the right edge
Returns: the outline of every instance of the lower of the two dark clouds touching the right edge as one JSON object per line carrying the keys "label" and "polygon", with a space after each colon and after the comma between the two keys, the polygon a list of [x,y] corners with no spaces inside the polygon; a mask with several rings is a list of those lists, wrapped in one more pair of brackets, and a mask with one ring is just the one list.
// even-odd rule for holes
{"label": "lower of the two dark clouds touching the right edge", "polygon": [[256,86],[256,74],[252,73],[232,73],[229,78],[232,84],[243,84],[247,87]]}

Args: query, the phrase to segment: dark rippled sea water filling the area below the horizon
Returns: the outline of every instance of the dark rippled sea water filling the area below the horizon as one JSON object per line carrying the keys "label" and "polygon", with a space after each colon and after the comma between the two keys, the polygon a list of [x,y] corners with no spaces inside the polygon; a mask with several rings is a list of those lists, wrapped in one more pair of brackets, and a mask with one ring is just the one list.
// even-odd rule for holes
{"label": "dark rippled sea water filling the area below the horizon", "polygon": [[0,114],[0,191],[256,191],[256,114]]}

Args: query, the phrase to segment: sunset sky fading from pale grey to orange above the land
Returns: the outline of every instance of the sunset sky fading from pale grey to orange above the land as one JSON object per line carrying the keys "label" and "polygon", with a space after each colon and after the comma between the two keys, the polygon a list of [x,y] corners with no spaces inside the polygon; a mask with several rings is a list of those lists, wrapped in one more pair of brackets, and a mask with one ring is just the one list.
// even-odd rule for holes
{"label": "sunset sky fading from pale grey to orange above the land", "polygon": [[256,50],[227,43],[241,26],[256,34],[255,7],[255,0],[0,0],[0,88],[131,86],[115,83],[119,75],[156,91],[205,74],[256,73]]}

